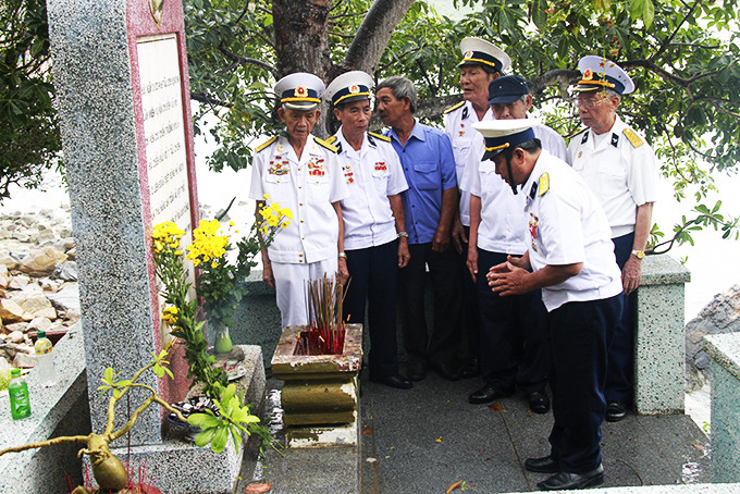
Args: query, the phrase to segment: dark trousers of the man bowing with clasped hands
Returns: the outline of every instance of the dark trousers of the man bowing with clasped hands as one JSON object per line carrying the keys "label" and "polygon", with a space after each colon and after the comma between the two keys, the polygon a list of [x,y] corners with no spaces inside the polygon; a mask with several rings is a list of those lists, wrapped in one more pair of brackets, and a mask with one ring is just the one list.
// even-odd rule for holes
{"label": "dark trousers of the man bowing with clasped hands", "polygon": [[620,312],[621,297],[616,295],[567,302],[548,313],[555,418],[550,445],[560,471],[585,473],[602,461],[606,349]]}

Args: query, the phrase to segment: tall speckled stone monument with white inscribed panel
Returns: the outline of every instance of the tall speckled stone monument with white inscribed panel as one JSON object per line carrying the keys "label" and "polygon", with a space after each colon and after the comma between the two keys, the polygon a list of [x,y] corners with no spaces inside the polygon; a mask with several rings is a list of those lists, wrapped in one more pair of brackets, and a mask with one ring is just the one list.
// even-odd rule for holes
{"label": "tall speckled stone monument with white inscribed panel", "polygon": [[[160,324],[152,226],[174,221],[189,233],[197,225],[183,7],[181,0],[48,0],[48,15],[90,415],[101,431],[107,407],[98,386],[106,368],[132,375],[170,337]],[[174,381],[148,374],[144,383],[176,402],[187,392],[187,365],[177,356],[171,361]],[[132,397],[132,408],[138,403]],[[125,422],[125,410],[118,415]],[[157,407],[140,417],[131,433],[132,464],[146,458],[163,492],[231,492],[240,454],[168,441],[163,423]]]}

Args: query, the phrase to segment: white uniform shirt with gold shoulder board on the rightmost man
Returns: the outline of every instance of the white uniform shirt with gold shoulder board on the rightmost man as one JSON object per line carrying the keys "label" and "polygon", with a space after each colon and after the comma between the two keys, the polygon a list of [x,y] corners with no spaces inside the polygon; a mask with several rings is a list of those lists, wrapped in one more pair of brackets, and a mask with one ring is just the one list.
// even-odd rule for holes
{"label": "white uniform shirt with gold shoulder board on the rightmost man", "polygon": [[599,197],[612,227],[612,238],[634,231],[637,208],[655,202],[655,153],[617,115],[606,136],[591,128],[570,139],[569,162]]}

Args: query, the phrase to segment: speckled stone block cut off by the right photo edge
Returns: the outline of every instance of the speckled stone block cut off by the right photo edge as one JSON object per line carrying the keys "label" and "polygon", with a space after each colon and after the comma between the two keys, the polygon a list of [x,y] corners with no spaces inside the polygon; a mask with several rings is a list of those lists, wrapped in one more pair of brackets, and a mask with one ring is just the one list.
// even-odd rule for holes
{"label": "speckled stone block cut off by the right photo edge", "polygon": [[712,357],[712,480],[740,482],[740,334],[704,337]]}

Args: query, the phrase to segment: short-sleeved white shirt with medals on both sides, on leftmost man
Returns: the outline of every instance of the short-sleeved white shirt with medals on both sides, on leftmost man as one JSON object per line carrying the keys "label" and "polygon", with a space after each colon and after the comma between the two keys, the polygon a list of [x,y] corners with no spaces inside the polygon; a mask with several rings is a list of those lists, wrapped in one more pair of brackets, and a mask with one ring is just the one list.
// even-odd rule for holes
{"label": "short-sleeved white shirt with medals on both sides, on leftmost man", "polygon": [[309,136],[300,159],[285,137],[255,153],[249,198],[278,202],[293,212],[291,224],[268,247],[273,262],[306,263],[337,255],[340,225],[333,202],[347,197],[334,151]]}

